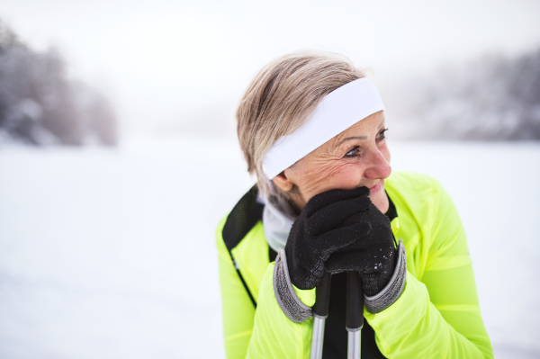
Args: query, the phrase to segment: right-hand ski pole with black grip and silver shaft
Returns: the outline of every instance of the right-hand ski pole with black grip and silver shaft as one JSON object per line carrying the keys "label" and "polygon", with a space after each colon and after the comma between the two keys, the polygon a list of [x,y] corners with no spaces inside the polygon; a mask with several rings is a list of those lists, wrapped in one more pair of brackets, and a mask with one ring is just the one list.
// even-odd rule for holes
{"label": "right-hand ski pole with black grip and silver shaft", "polygon": [[347,359],[359,359],[364,327],[364,292],[358,272],[347,272]]}

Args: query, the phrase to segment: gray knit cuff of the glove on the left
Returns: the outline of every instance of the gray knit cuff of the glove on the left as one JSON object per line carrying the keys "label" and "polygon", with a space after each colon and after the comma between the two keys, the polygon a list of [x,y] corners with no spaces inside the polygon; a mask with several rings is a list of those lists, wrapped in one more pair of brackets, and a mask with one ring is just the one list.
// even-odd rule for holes
{"label": "gray knit cuff of the glove on the left", "polygon": [[283,248],[275,257],[274,294],[279,307],[294,323],[302,323],[302,321],[311,318],[311,307],[305,305],[294,292],[287,267],[287,256],[285,256]]}

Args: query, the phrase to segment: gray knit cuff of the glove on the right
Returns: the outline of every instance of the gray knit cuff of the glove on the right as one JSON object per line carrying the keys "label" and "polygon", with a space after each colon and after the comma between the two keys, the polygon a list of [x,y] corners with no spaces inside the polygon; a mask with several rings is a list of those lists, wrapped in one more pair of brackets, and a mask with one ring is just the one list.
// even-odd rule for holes
{"label": "gray knit cuff of the glove on the right", "polygon": [[364,296],[365,309],[370,313],[379,313],[390,307],[398,300],[398,298],[400,298],[401,292],[403,292],[403,288],[405,288],[407,264],[405,261],[405,246],[403,246],[402,239],[400,239],[398,253],[396,269],[392,274],[390,282],[383,288],[383,291],[378,292],[373,297]]}

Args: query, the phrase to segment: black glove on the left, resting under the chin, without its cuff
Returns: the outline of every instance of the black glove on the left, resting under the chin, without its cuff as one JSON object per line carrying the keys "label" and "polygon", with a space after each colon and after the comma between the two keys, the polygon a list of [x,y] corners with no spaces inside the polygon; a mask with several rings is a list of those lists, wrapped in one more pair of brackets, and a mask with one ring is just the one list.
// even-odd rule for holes
{"label": "black glove on the left, resting under the chin, without its cuff", "polygon": [[[374,231],[368,221],[373,217],[373,203],[368,194],[367,187],[351,191],[330,190],[317,194],[305,205],[293,223],[285,246],[289,275],[297,288],[314,288],[324,274],[324,263],[333,253],[347,246],[356,245],[355,250],[363,249],[365,246],[357,243],[363,242],[370,233],[373,237]],[[368,216],[363,216],[365,211],[370,212]],[[371,244],[373,239],[365,242]],[[342,260],[345,260],[344,265],[353,266],[351,258],[343,257],[344,254],[333,262],[334,272],[339,271]]]}

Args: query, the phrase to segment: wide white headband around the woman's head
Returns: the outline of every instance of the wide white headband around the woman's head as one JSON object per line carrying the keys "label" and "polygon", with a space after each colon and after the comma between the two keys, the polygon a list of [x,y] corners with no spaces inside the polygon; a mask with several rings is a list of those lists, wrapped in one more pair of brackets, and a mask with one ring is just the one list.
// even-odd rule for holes
{"label": "wide white headband around the woman's head", "polygon": [[274,178],[329,139],[381,110],[384,110],[383,100],[369,78],[338,87],[322,99],[300,129],[275,141],[263,158],[266,176]]}

